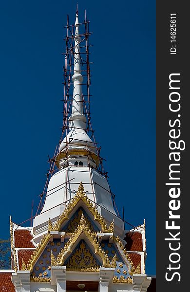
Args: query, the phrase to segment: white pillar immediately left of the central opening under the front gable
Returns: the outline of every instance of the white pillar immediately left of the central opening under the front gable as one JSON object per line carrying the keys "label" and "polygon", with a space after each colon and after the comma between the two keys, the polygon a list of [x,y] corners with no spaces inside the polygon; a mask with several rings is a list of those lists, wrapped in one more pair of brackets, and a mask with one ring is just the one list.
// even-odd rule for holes
{"label": "white pillar immediately left of the central opening under the front gable", "polygon": [[66,292],[66,267],[52,266],[51,285],[57,285],[57,292]]}

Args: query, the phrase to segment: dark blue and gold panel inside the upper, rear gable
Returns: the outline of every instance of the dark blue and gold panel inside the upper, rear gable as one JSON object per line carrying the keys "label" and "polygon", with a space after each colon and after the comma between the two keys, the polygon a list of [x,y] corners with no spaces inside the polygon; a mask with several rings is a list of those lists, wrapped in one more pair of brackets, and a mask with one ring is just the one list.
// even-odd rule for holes
{"label": "dark blue and gold panel inside the upper, rear gable", "polygon": [[[95,225],[94,221],[92,221],[92,219],[90,219],[90,217],[87,215],[87,213],[85,212],[85,210],[80,207],[77,209],[77,211],[75,212],[75,214],[71,217],[71,219],[69,219],[69,221],[66,223],[66,225],[63,226],[62,231],[65,231],[66,233],[73,233],[75,232],[75,229],[77,228],[78,224],[79,224],[79,220],[77,219],[78,216],[79,218],[81,218],[81,214],[84,214],[84,217],[87,218],[90,223],[92,224],[92,229],[94,229],[95,232],[99,231],[97,226]],[[71,224],[72,222],[72,224]],[[71,228],[72,225],[72,228]],[[93,232],[93,230],[91,230]]]}

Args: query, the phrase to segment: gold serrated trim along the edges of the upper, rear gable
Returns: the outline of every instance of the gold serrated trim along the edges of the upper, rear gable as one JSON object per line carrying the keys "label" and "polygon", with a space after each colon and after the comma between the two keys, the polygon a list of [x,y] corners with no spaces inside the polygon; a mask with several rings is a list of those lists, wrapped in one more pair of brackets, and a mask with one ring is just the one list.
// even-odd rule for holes
{"label": "gold serrated trim along the edges of the upper, rear gable", "polygon": [[87,206],[89,211],[94,216],[94,220],[99,222],[99,224],[101,225],[101,228],[102,228],[102,232],[108,233],[108,226],[106,224],[105,219],[99,214],[95,205],[93,205],[93,203],[90,201],[90,199],[86,196],[82,182],[80,182],[80,184],[78,186],[76,196],[70,201],[69,205],[65,208],[64,212],[57,219],[57,222],[54,225],[53,230],[60,231],[62,223],[65,220],[69,219],[70,213],[73,211],[73,209],[75,208],[75,206],[77,205],[77,203],[80,200],[85,203],[85,205]]}

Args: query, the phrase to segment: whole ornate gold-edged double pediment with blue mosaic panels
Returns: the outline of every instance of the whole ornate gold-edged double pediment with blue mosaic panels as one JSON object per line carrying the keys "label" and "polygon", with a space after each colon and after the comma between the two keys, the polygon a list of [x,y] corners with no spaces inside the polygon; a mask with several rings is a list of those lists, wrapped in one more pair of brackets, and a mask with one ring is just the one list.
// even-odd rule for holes
{"label": "whole ornate gold-edged double pediment with blue mosaic panels", "polygon": [[[81,204],[71,216],[71,211],[82,200],[101,225],[95,222]],[[30,270],[34,281],[49,281],[51,266],[66,265],[70,271],[97,272],[99,267],[114,268],[114,282],[131,283],[135,268],[119,237],[114,236],[114,221],[109,228],[95,206],[84,193],[80,183],[76,197],[53,226],[49,220],[49,232],[43,236],[28,263],[22,261],[22,270]],[[58,231],[55,233],[55,231]]]}

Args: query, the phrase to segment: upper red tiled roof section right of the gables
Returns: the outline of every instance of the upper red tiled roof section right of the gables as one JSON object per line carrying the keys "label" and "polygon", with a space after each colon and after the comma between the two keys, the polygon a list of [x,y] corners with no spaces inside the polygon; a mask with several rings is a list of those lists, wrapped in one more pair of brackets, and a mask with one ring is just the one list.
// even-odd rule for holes
{"label": "upper red tiled roof section right of the gables", "polygon": [[127,244],[125,245],[125,248],[127,251],[133,251],[133,252],[143,251],[142,233],[128,232],[126,233],[126,237],[124,239],[127,242]]}

